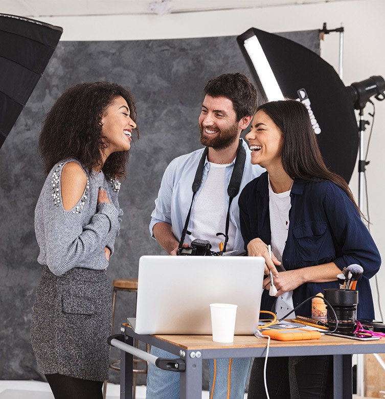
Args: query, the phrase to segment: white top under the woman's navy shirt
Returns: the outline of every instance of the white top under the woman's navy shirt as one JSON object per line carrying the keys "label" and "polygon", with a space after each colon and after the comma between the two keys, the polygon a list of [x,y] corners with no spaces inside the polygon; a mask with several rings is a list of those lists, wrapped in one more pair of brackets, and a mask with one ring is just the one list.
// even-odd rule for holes
{"label": "white top under the woman's navy shirt", "polygon": [[[290,191],[276,194],[270,184],[269,179],[269,211],[270,211],[270,229],[271,229],[271,251],[276,255],[277,259],[282,262],[282,254],[285,249],[287,233],[289,231],[289,210],[291,207]],[[281,265],[277,267],[278,271],[284,271]],[[285,316],[290,309],[293,309],[293,292],[284,292],[277,297],[274,312],[277,318]],[[291,313],[290,317],[294,318],[295,313]]]}

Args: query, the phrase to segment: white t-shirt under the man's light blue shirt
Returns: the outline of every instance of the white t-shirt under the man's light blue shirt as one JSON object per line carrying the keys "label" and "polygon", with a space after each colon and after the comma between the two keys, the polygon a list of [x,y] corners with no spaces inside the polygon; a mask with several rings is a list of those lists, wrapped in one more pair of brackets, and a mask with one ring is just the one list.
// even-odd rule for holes
{"label": "white t-shirt under the man's light blue shirt", "polygon": [[[210,164],[210,170],[205,184],[191,210],[189,230],[191,241],[196,238],[209,240],[213,251],[219,251],[219,243],[224,243],[224,236],[216,236],[216,233],[225,233],[227,204],[227,187],[225,187],[225,171],[231,164]],[[236,227],[229,224],[229,242],[226,252],[233,249]]]}

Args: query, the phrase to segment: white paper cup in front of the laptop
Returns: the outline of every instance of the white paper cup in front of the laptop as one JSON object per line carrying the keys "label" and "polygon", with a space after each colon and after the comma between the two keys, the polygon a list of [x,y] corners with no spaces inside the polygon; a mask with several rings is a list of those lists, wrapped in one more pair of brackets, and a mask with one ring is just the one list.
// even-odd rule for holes
{"label": "white paper cup in front of the laptop", "polygon": [[230,303],[211,303],[211,327],[213,341],[231,343],[234,341],[237,305]]}

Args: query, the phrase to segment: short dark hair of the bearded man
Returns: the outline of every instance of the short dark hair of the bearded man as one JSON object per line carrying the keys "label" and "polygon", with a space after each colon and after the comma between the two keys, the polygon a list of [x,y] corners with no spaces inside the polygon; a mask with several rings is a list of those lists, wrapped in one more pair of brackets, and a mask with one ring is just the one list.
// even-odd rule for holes
{"label": "short dark hair of the bearded man", "polygon": [[237,121],[254,115],[258,105],[258,93],[248,77],[240,72],[223,74],[209,80],[203,88],[206,96],[226,97],[233,102]]}

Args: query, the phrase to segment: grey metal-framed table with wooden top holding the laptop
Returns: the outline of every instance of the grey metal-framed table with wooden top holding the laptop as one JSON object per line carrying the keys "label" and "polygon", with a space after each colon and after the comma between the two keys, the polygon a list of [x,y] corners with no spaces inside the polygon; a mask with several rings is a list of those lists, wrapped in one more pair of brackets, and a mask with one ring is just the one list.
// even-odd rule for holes
{"label": "grey metal-framed table with wooden top holding the laptop", "polygon": [[[186,366],[185,371],[179,372],[180,399],[201,399],[203,359],[257,358],[266,355],[266,339],[255,338],[255,345],[253,343],[252,346],[247,347],[234,345],[219,348],[208,347],[206,344],[201,347],[194,345],[194,347],[189,348],[189,346],[180,342],[180,339],[178,340],[179,343],[173,342],[173,336],[138,335],[128,325],[123,324],[123,327],[124,337],[122,336],[122,341],[126,344],[132,346],[133,339],[136,338],[180,356],[180,361],[185,363]],[[165,337],[167,337],[167,340]],[[207,339],[211,340],[212,338],[208,336]],[[319,340],[309,341],[282,342],[271,340],[269,348],[269,357],[333,355],[334,381],[338,381],[338,383],[333,384],[336,399],[352,398],[352,355],[370,353],[385,353],[385,340],[362,342],[323,336]],[[132,399],[132,359],[133,355],[121,348],[120,399]]]}

